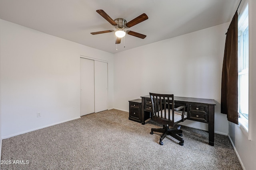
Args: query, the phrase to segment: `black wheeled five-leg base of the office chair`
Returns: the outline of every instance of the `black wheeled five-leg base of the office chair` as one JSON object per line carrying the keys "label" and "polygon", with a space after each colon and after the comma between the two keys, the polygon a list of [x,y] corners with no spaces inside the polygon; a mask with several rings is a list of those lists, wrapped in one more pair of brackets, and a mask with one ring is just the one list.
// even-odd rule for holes
{"label": "black wheeled five-leg base of the office chair", "polygon": [[162,142],[164,140],[164,138],[167,135],[170,135],[172,137],[174,137],[175,139],[177,139],[179,142],[179,145],[183,146],[184,145],[184,139],[181,138],[182,136],[182,130],[180,130],[180,125],[178,126],[177,129],[169,129],[169,127],[163,125],[163,128],[157,129],[157,128],[152,128],[150,134],[153,134],[153,132],[160,132],[163,133],[162,136],[160,137],[160,145],[164,145],[164,143]]}

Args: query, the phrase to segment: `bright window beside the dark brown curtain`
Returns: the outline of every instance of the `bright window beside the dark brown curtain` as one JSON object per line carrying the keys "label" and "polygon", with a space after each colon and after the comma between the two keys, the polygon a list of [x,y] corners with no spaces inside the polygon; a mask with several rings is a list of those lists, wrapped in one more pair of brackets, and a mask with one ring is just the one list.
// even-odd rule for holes
{"label": "bright window beside the dark brown curtain", "polygon": [[248,4],[238,19],[238,112],[239,123],[248,131],[249,36]]}

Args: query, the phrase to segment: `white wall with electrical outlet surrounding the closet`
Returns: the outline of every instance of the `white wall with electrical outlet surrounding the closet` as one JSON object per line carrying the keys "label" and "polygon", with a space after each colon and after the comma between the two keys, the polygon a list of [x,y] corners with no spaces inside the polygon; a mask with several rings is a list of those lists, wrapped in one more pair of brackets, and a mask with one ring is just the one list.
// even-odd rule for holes
{"label": "white wall with electrical outlet surrounding the closet", "polygon": [[112,53],[0,22],[2,138],[80,117],[80,55],[108,61],[113,107]]}

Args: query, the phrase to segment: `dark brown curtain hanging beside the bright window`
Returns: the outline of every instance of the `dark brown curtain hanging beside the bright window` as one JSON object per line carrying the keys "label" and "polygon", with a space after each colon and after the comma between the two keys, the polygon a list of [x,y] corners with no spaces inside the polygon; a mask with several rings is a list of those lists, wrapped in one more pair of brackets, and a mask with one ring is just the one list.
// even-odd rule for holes
{"label": "dark brown curtain hanging beside the bright window", "polygon": [[221,113],[238,124],[238,14],[228,27],[222,66]]}

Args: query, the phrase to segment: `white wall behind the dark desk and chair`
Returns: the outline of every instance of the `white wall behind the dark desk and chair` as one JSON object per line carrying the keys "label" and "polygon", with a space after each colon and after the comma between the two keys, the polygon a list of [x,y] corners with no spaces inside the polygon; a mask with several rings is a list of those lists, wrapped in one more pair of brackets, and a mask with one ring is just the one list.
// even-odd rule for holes
{"label": "white wall behind the dark desk and chair", "polygon": [[[166,39],[114,55],[114,107],[129,110],[128,100],[149,92],[216,100],[215,132],[228,134],[220,113],[220,87],[229,23]],[[148,35],[150,36],[150,35]],[[190,127],[208,124],[186,120]]]}

